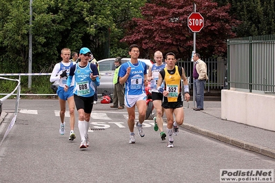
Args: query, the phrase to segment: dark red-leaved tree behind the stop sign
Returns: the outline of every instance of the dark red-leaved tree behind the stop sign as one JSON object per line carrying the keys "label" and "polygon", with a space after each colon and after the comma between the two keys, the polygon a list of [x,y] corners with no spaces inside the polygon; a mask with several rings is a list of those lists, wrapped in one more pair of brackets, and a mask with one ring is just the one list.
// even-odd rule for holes
{"label": "dark red-leaved tree behind the stop sign", "polygon": [[[210,0],[197,0],[196,12],[205,19],[204,28],[196,34],[196,50],[203,56],[223,55],[226,40],[236,36],[232,28],[238,21],[230,17],[230,4],[218,7]],[[128,25],[125,43],[137,43],[147,52],[175,52],[177,58],[190,58],[193,34],[187,28],[187,17],[193,12],[193,1],[153,0],[141,8],[143,18]]]}

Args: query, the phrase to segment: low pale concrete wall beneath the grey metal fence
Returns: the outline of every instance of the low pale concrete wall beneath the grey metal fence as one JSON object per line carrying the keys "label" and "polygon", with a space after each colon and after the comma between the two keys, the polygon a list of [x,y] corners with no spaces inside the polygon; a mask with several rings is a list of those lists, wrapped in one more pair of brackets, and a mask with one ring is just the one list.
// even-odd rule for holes
{"label": "low pale concrete wall beneath the grey metal fence", "polygon": [[221,118],[275,131],[275,96],[223,89]]}

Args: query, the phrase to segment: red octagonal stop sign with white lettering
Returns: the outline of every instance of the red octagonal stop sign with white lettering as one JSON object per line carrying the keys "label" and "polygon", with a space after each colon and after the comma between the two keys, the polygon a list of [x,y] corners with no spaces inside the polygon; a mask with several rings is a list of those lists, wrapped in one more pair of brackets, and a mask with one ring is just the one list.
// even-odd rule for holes
{"label": "red octagonal stop sign with white lettering", "polygon": [[192,32],[200,32],[204,25],[203,16],[199,12],[192,12],[187,18],[187,25]]}

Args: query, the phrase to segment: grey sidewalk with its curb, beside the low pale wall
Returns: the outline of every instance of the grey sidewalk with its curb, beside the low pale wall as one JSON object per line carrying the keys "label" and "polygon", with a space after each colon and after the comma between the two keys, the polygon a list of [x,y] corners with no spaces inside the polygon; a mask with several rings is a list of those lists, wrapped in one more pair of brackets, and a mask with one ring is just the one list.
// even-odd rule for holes
{"label": "grey sidewalk with its curb, beside the low pale wall", "polygon": [[221,119],[221,101],[205,101],[203,111],[194,111],[193,102],[184,103],[185,119],[181,127],[221,140],[236,147],[275,158],[275,131]]}

